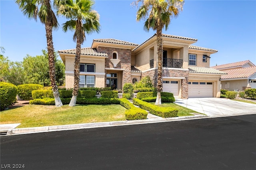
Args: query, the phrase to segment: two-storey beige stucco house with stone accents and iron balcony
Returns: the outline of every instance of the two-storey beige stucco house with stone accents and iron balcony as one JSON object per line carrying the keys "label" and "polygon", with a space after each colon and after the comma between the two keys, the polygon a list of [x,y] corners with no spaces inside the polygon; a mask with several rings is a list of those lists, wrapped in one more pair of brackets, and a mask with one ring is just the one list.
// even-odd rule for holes
{"label": "two-storey beige stucco house with stone accents and iron balcony", "polygon": [[[210,68],[215,49],[191,45],[197,39],[162,34],[163,91],[182,99],[220,97],[220,77],[226,73]],[[76,49],[58,51],[66,66],[66,88],[74,84]],[[115,39],[95,39],[92,46],[81,49],[80,87],[122,89],[150,76],[157,82],[156,34],[142,44]]]}

